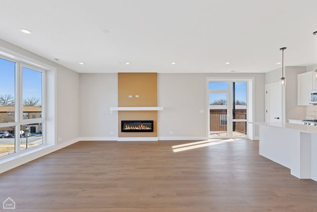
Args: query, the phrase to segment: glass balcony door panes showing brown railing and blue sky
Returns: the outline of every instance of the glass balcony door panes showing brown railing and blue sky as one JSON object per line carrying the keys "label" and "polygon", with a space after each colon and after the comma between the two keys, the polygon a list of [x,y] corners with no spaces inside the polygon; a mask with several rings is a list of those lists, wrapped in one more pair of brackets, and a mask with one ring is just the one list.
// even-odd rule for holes
{"label": "glass balcony door panes showing brown railing and blue sky", "polygon": [[247,137],[247,81],[209,82],[210,138]]}

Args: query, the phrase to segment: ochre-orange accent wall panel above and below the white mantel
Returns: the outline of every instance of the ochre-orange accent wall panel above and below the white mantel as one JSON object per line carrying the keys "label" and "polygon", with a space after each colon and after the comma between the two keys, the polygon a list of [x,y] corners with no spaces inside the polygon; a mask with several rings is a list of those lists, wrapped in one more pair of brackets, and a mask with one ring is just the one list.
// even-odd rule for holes
{"label": "ochre-orange accent wall panel above and below the white mantel", "polygon": [[[158,73],[118,73],[118,107],[157,105]],[[154,132],[121,133],[121,120],[153,120]],[[118,111],[118,125],[119,137],[157,137],[158,111]]]}

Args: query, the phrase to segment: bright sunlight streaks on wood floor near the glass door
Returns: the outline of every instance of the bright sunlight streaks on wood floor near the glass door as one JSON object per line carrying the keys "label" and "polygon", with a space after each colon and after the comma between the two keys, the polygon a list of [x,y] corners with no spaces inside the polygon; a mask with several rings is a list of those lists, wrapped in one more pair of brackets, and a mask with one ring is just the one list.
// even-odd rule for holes
{"label": "bright sunlight streaks on wood floor near the glass door", "polygon": [[[231,142],[231,141],[236,141],[236,140],[237,139],[223,139],[223,140],[210,139],[210,140],[205,140],[205,141],[196,141],[196,142],[175,145],[175,146],[172,146],[172,149],[173,149],[173,152],[180,152],[180,151],[201,148],[201,147],[206,147],[206,146],[212,146],[212,145],[217,145],[220,143]],[[238,140],[240,140],[240,139],[238,139]]]}

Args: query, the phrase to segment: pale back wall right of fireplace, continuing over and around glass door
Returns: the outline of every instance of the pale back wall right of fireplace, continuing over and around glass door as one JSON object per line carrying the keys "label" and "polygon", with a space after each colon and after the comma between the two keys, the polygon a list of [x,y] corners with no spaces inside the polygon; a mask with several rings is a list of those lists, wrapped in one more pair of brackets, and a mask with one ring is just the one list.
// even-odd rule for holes
{"label": "pale back wall right of fireplace, continuing over and around glass door", "polygon": [[[255,77],[254,121],[264,122],[264,73],[159,73],[158,104],[164,107],[159,112],[159,139],[207,136],[207,77]],[[253,133],[259,136],[258,128]]]}

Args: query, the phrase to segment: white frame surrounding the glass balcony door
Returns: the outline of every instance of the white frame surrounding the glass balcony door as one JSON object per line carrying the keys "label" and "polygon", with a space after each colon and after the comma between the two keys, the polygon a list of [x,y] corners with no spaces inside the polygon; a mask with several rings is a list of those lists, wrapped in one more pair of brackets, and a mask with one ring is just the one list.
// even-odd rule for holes
{"label": "white frame surrounding the glass balcony door", "polygon": [[[257,138],[254,135],[255,132],[255,126],[253,124],[254,122],[254,114],[255,114],[255,77],[253,76],[235,76],[235,77],[206,77],[206,126],[207,126],[207,131],[206,131],[206,137],[209,139],[210,138],[210,112],[209,112],[209,82],[210,81],[247,81],[247,135],[246,139],[251,139],[251,140],[256,140]],[[229,90],[231,91],[231,83],[229,83]],[[229,98],[229,97],[228,97]],[[231,99],[230,99],[231,102]],[[232,104],[230,104],[228,110],[232,110]],[[227,116],[228,120],[228,116]],[[232,122],[232,117],[230,117],[230,122]],[[228,130],[227,130],[228,131]],[[232,129],[231,129],[232,131]],[[230,138],[229,136],[231,135],[228,134],[227,137],[225,138]],[[219,139],[222,139],[222,137],[217,137]]]}

